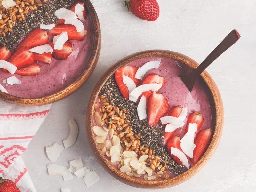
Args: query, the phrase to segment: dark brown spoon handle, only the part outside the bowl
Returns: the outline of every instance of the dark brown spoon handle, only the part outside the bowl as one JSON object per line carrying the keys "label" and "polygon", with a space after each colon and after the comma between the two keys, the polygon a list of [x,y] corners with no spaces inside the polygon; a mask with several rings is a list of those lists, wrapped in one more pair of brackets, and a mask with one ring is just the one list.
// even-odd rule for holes
{"label": "dark brown spoon handle, only the part outside the bowl", "polygon": [[236,43],[240,38],[239,33],[234,29],[231,31],[223,41],[205,58],[205,60],[192,72],[194,75],[200,75],[217,57],[226,51],[231,45]]}

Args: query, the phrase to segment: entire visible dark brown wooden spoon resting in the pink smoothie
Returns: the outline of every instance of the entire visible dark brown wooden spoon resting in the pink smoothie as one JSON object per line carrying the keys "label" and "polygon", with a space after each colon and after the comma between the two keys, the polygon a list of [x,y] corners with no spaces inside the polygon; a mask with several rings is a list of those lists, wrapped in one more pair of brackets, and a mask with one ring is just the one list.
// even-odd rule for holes
{"label": "entire visible dark brown wooden spoon resting in the pink smoothie", "polygon": [[239,33],[234,29],[231,31],[223,41],[206,57],[206,59],[191,73],[185,76],[181,76],[181,80],[188,87],[189,91],[192,91],[195,81],[198,76],[206,69],[217,57],[219,57],[224,51],[226,51],[231,45],[236,43],[236,41],[240,38]]}

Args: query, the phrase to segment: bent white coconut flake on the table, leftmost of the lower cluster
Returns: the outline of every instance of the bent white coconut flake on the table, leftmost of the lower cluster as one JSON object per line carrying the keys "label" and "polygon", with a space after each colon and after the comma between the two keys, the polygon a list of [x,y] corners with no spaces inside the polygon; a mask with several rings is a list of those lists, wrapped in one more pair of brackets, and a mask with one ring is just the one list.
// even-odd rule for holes
{"label": "bent white coconut flake on the table, leftmost of the lower cluster", "polygon": [[49,175],[62,175],[64,181],[73,179],[72,173],[68,171],[67,167],[51,163],[47,165],[47,169]]}

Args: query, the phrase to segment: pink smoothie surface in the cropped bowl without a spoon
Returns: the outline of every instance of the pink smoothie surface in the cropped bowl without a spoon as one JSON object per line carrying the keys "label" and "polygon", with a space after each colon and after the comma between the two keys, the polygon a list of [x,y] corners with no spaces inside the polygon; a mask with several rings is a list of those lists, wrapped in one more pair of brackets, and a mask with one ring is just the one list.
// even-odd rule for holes
{"label": "pink smoothie surface in the cropped bowl without a spoon", "polygon": [[[50,64],[38,62],[40,73],[37,76],[11,75],[0,70],[0,84],[6,88],[10,95],[23,98],[43,97],[67,87],[82,73],[92,54],[94,33],[89,14],[86,17],[84,28],[87,30],[84,40],[70,41],[74,50],[66,60],[52,58]],[[53,37],[49,37],[49,41],[51,41]],[[21,84],[3,84],[2,81],[11,76],[16,76],[21,81]]]}

